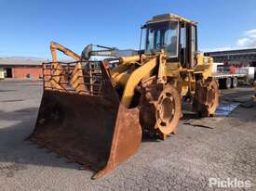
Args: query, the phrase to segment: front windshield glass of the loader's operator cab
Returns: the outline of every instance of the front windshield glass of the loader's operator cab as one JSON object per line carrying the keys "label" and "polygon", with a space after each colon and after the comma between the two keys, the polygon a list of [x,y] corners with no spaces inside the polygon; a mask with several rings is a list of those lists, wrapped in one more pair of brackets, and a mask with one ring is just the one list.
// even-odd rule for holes
{"label": "front windshield glass of the loader's operator cab", "polygon": [[148,24],[145,52],[159,52],[164,48],[168,57],[178,57],[178,24],[176,20]]}

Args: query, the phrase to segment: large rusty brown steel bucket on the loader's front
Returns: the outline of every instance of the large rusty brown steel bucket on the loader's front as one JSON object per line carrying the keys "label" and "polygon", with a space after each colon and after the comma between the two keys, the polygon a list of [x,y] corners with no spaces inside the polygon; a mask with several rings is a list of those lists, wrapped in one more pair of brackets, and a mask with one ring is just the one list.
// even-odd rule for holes
{"label": "large rusty brown steel bucket on the loader's front", "polygon": [[[93,178],[111,172],[141,145],[138,109],[128,109],[120,104],[102,63],[100,69],[101,87],[88,88],[93,84],[85,83],[87,88],[84,89],[88,94],[58,91],[45,86],[34,132],[29,136],[39,146],[97,172]],[[84,79],[86,77],[84,75]],[[99,78],[97,82],[99,84]],[[97,89],[98,93],[89,89]]]}

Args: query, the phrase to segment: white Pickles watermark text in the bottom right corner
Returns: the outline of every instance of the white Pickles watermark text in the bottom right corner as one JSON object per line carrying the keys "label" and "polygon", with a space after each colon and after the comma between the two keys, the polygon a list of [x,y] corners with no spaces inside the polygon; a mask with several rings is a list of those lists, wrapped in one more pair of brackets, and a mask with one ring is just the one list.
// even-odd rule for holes
{"label": "white Pickles watermark text in the bottom right corner", "polygon": [[237,178],[209,178],[209,187],[250,188],[252,183],[249,180],[239,180]]}

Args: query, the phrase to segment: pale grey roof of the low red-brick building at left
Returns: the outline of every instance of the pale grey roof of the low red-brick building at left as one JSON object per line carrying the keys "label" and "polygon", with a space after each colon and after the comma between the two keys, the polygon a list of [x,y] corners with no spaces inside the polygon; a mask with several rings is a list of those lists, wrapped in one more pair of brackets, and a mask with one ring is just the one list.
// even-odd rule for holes
{"label": "pale grey roof of the low red-brick building at left", "polygon": [[43,62],[47,60],[0,58],[0,66],[41,66]]}

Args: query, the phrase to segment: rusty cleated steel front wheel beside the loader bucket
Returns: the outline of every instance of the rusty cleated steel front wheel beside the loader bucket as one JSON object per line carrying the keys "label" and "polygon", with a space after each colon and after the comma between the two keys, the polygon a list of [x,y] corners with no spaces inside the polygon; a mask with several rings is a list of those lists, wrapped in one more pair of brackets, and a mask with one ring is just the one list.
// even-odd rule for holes
{"label": "rusty cleated steel front wheel beside the loader bucket", "polygon": [[151,84],[143,88],[140,102],[140,122],[144,132],[165,139],[176,132],[182,115],[182,100],[172,85],[158,88]]}

